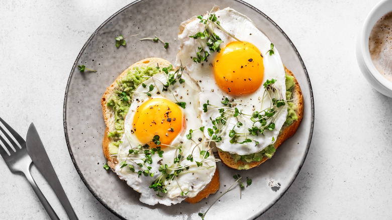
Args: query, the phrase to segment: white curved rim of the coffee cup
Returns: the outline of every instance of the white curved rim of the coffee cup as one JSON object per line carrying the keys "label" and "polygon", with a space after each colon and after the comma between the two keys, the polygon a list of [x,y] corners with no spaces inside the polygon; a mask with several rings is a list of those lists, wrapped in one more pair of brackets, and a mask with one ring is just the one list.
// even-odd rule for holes
{"label": "white curved rim of the coffee cup", "polygon": [[363,61],[370,75],[385,89],[392,91],[392,81],[382,76],[374,66],[369,53],[369,36],[375,23],[388,12],[392,12],[392,0],[381,0],[367,15],[360,32],[360,49]]}

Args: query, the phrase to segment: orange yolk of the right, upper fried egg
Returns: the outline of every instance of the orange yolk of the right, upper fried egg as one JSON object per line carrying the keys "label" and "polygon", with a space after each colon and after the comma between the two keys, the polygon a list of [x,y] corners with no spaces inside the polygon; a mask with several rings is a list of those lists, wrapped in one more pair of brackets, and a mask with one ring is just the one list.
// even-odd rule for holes
{"label": "orange yolk of the right, upper fried egg", "polygon": [[218,86],[229,94],[252,93],[263,82],[263,57],[251,43],[231,42],[217,54],[214,76]]}

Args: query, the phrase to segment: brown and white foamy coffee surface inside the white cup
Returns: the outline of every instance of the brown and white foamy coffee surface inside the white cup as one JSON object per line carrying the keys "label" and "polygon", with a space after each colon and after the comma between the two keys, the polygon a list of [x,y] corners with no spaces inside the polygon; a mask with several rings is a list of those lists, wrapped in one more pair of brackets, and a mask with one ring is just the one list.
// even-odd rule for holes
{"label": "brown and white foamy coffee surface inside the white cup", "polygon": [[377,70],[392,81],[392,12],[381,17],[371,29],[369,52]]}

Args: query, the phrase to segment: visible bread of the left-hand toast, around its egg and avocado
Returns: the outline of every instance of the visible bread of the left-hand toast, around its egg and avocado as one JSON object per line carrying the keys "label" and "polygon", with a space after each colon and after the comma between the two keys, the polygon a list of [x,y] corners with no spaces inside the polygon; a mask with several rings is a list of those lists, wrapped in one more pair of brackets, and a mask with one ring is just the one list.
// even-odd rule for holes
{"label": "visible bread of the left-hand toast, around its egg and avocado", "polygon": [[[102,96],[101,99],[101,104],[102,104],[102,111],[104,115],[104,120],[106,124],[106,129],[105,129],[105,134],[102,142],[103,146],[103,151],[105,154],[105,157],[107,159],[108,166],[112,168],[112,170],[115,170],[116,164],[118,163],[117,157],[115,155],[112,155],[110,152],[110,144],[114,142],[115,140],[112,137],[109,137],[108,135],[111,132],[116,131],[116,116],[115,116],[115,111],[112,107],[108,106],[108,102],[112,98],[112,96],[116,93],[116,89],[118,89],[119,85],[121,84],[121,81],[124,77],[127,76],[128,71],[132,70],[135,67],[147,67],[147,66],[153,66],[155,67],[169,67],[171,63],[167,60],[161,59],[161,58],[147,58],[144,60],[141,60],[139,62],[136,62],[132,64],[130,67],[128,67],[123,73],[121,73],[117,79],[107,88],[105,91],[104,95]],[[140,84],[140,83],[139,83]],[[137,86],[137,85],[135,85]],[[187,197],[185,201],[189,203],[196,203],[202,200],[203,198],[207,198],[210,194],[216,193],[220,187],[220,182],[219,182],[219,172],[218,168],[215,170],[214,176],[210,183],[202,190],[200,191],[196,196],[194,197]]]}

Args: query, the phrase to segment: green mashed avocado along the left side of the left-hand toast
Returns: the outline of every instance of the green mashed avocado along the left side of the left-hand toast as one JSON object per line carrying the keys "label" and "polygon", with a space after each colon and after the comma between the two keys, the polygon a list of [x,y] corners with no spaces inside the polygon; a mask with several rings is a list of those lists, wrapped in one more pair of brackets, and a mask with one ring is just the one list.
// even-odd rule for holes
{"label": "green mashed avocado along the left side of the left-hand toast", "polygon": [[[170,65],[167,69],[171,70],[172,66]],[[142,82],[148,79],[148,77],[144,76],[153,76],[161,71],[162,68],[153,66],[134,67],[133,69],[129,69],[127,74],[121,80],[117,81],[114,94],[107,103],[108,107],[113,108],[116,127],[116,131],[110,132],[108,135],[108,137],[113,140],[113,142],[109,145],[110,154],[117,154],[118,152],[120,139],[124,133],[124,118],[131,106],[133,91],[142,84]]]}

